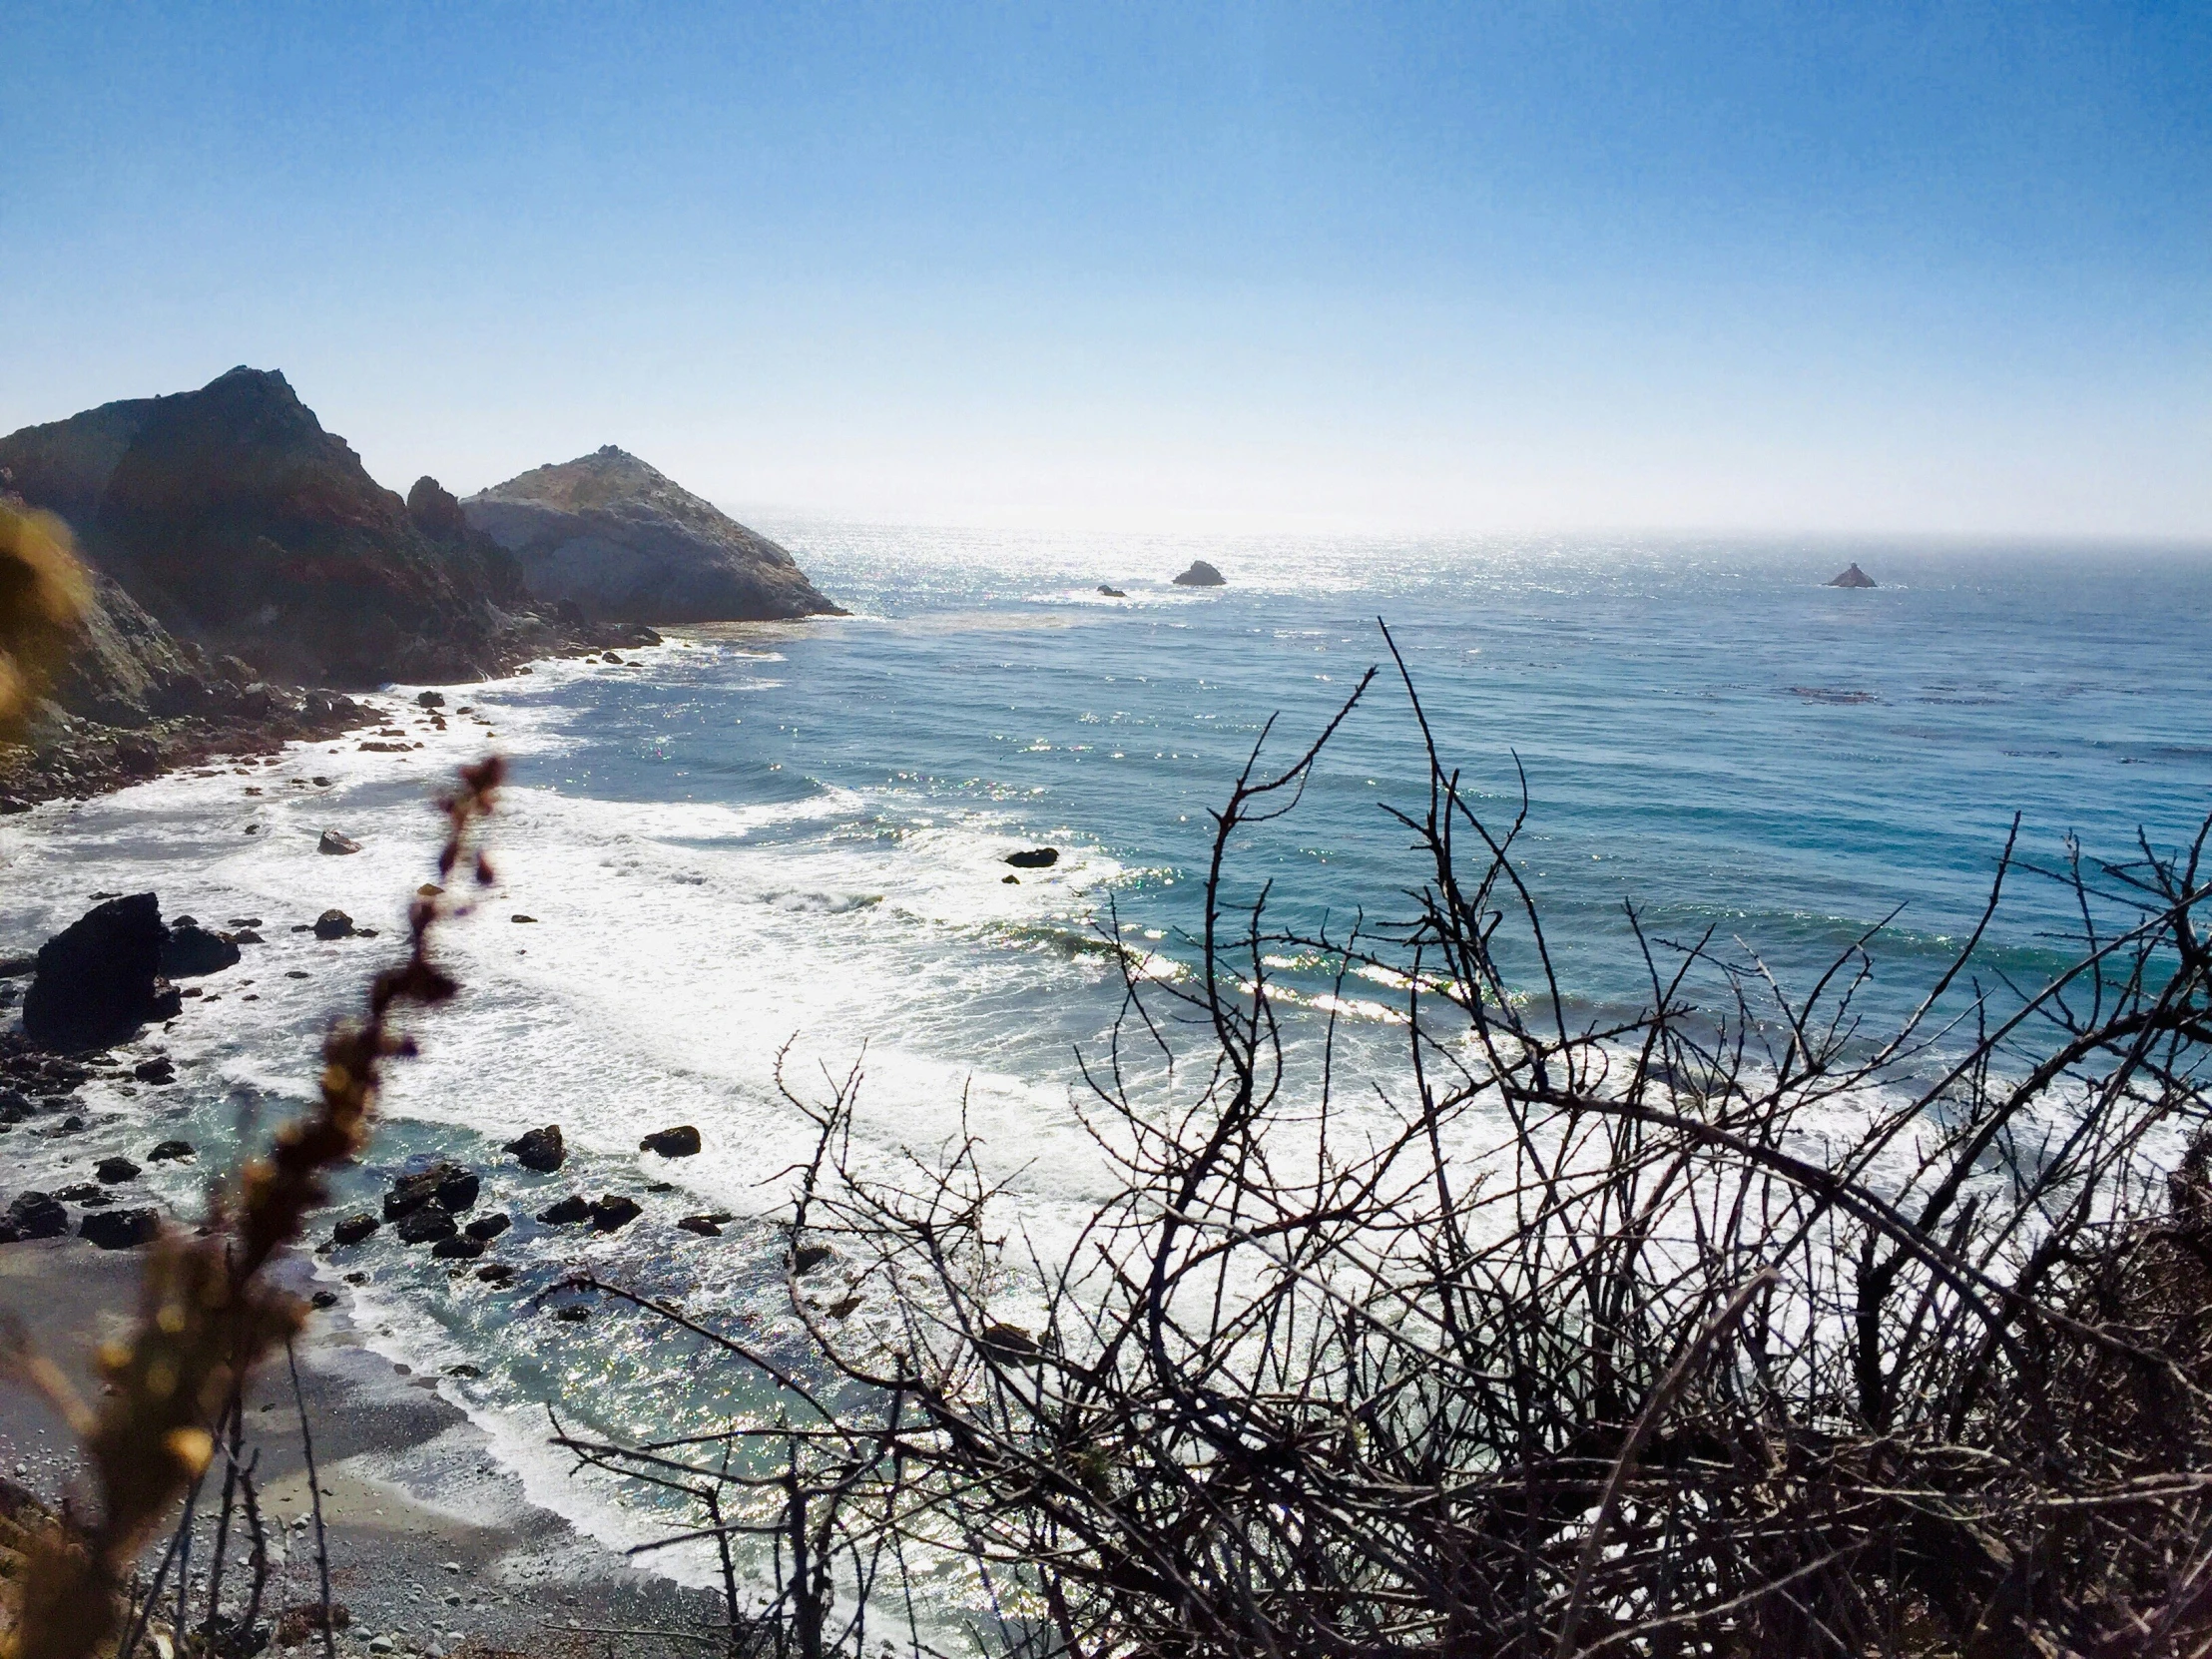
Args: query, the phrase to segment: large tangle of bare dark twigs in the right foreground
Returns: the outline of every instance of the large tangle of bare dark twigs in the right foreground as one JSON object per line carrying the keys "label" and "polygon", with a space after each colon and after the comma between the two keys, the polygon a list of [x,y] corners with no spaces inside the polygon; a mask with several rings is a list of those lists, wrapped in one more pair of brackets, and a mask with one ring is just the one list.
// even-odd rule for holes
{"label": "large tangle of bare dark twigs in the right foreground", "polygon": [[[1329,734],[1274,772],[1263,737],[1197,975],[1119,956],[1084,1060],[1115,1190],[1073,1248],[1022,1243],[973,1139],[865,1172],[847,1077],[805,1104],[790,1214],[847,1301],[794,1270],[774,1340],[684,1316],[779,1409],[568,1444],[721,1540],[801,1513],[781,1458],[807,1559],[841,1553],[834,1586],[776,1564],[807,1659],[860,1650],[883,1559],[967,1573],[971,1635],[1079,1659],[2208,1652],[2212,823],[2104,865],[2006,845],[1889,1029],[1878,929],[1792,993],[1632,911],[1646,1006],[1577,1013],[1526,796],[1491,821],[1405,692],[1409,914],[1301,933],[1232,900]],[[1982,949],[2024,878],[2079,916],[2042,984]],[[1281,958],[1334,964],[1296,1015],[1318,1064]],[[1312,1006],[1352,975],[1394,987],[1389,1066]]]}

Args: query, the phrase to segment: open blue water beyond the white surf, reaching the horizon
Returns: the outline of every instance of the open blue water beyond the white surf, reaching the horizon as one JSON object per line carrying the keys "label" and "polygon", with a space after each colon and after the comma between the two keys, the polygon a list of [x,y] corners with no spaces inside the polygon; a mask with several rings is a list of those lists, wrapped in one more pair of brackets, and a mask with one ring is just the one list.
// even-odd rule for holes
{"label": "open blue water beyond the white surf, reaching the horizon", "polygon": [[[984,814],[1104,849],[1121,916],[1172,936],[1261,726],[1296,754],[1383,664],[1296,818],[1234,872],[1241,891],[1272,880],[1292,927],[1402,916],[1422,872],[1380,807],[1418,810],[1425,774],[1389,624],[1495,825],[1526,779],[1522,869],[1590,1000],[1644,991],[1626,902],[1661,933],[1741,936],[1785,978],[1896,911],[1876,1000],[1911,998],[2015,812],[2024,852],[2053,860],[2066,834],[2093,856],[2132,856],[2137,830],[2168,847],[2212,810],[2201,553],[1254,542],[1208,546],[1232,582],[1192,593],[1161,586],[1188,544],[790,535],[865,619],[781,635],[772,686],[710,661],[575,686],[588,737],[560,787],[743,805],[841,787],[887,836]],[[1882,586],[1823,586],[1860,555]],[[1995,940],[2035,956],[2066,922],[2059,894],[2020,883]]]}

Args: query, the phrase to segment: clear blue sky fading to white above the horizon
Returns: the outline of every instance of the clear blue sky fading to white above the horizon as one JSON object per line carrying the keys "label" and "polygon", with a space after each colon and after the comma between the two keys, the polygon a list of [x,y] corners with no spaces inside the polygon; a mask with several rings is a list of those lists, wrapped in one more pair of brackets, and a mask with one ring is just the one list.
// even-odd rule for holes
{"label": "clear blue sky fading to white above the horizon", "polygon": [[2212,538],[2212,4],[0,0],[0,429],[387,484]]}

